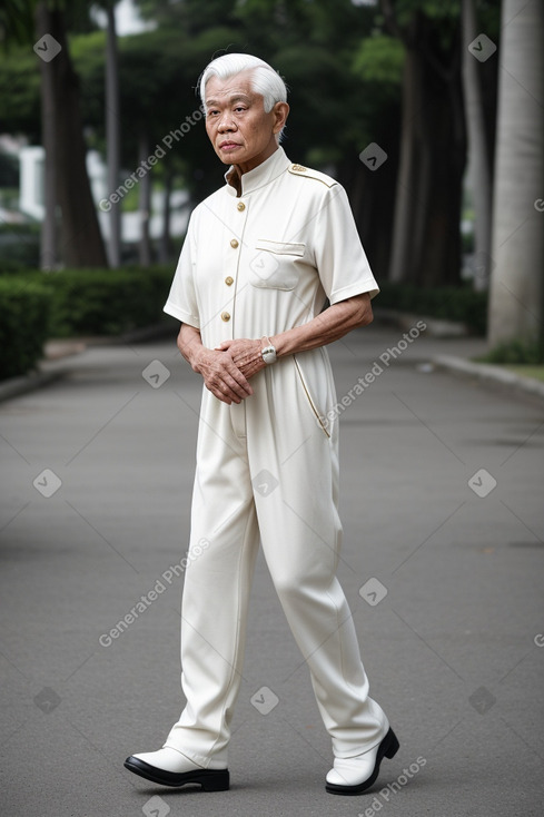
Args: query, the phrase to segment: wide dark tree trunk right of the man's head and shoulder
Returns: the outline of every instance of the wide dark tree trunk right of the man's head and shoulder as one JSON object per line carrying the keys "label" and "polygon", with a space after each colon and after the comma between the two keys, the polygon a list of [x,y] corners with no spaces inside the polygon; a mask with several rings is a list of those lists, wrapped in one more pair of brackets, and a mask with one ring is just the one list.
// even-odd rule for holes
{"label": "wide dark tree trunk right of the man's head and shoulder", "polygon": [[389,279],[455,285],[461,279],[466,154],[461,45],[457,36],[447,51],[439,49],[436,23],[422,12],[415,13],[403,40],[400,164]]}

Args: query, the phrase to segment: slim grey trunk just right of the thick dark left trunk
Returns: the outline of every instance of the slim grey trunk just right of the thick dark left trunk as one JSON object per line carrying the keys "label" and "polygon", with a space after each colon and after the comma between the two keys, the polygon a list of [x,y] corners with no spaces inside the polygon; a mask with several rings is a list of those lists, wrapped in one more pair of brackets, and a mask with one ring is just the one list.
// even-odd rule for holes
{"label": "slim grey trunk just right of the thick dark left trunk", "polygon": [[[109,3],[108,33],[106,46],[106,142],[108,159],[108,189],[112,193],[119,185],[120,145],[120,102],[119,102],[119,61],[117,53],[116,16]],[[118,267],[121,262],[121,200],[111,205],[109,211],[109,263]]]}

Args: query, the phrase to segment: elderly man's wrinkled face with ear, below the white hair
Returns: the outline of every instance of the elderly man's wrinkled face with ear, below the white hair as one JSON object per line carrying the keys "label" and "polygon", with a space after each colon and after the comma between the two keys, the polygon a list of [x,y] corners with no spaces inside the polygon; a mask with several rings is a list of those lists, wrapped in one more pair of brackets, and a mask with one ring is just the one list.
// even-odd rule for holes
{"label": "elderly man's wrinkled face with ear, below the white hair", "polygon": [[226,165],[237,165],[247,173],[277,149],[276,134],[281,130],[289,106],[276,102],[265,112],[260,93],[251,89],[251,72],[229,79],[211,77],[206,83],[206,132]]}

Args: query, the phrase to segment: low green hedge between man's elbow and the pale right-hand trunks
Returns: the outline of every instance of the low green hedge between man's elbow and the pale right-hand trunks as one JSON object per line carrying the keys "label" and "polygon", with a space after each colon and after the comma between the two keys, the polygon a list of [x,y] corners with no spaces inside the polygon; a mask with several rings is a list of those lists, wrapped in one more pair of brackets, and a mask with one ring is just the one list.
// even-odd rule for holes
{"label": "low green hedge between man's elbow and the pale right-hand trunks", "polygon": [[414,312],[427,317],[466,324],[476,335],[487,327],[487,293],[469,287],[419,287],[411,284],[380,283],[376,308]]}

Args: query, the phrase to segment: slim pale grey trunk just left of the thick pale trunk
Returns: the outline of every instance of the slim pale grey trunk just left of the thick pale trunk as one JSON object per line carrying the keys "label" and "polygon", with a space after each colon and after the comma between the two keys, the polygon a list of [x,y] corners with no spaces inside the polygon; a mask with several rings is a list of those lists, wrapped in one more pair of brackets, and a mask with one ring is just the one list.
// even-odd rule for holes
{"label": "slim pale grey trunk just left of the thick pale trunk", "polygon": [[486,289],[491,274],[492,181],[487,150],[482,77],[478,62],[468,45],[478,35],[474,0],[463,0],[463,90],[468,128],[472,196],[474,201],[474,287]]}

